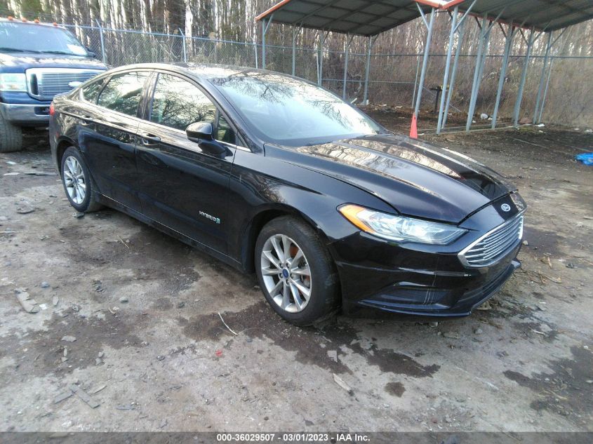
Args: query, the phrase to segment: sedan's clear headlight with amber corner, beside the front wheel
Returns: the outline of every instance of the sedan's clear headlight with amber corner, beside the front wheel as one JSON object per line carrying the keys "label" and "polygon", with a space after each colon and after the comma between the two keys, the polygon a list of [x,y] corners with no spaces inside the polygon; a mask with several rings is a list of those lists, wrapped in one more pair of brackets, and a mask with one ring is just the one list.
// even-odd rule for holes
{"label": "sedan's clear headlight with amber corner, beside the front wheel", "polygon": [[341,206],[338,210],[359,229],[389,241],[445,245],[467,231],[452,225],[381,213],[357,205]]}

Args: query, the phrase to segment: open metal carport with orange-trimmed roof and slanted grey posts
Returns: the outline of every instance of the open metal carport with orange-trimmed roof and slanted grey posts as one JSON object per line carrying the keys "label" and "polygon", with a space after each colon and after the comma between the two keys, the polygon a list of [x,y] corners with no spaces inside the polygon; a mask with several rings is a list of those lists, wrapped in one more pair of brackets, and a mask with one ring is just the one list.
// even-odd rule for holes
{"label": "open metal carport with orange-trimmed roof and slanted grey posts", "polygon": [[[502,88],[504,87],[512,41],[519,35],[527,44],[523,72],[519,83],[519,92],[517,93],[514,106],[513,120],[517,126],[533,43],[540,36],[547,36],[545,58],[533,114],[533,122],[538,123],[542,116],[545,95],[547,93],[545,77],[549,53],[554,43],[559,39],[559,35],[554,38],[553,33],[554,31],[566,29],[570,25],[575,25],[576,23],[593,18],[593,2],[591,0],[283,0],[256,17],[256,20],[259,20],[262,25],[262,67],[265,68],[265,37],[269,25],[272,22],[293,26],[293,74],[295,71],[296,33],[302,28],[318,29],[321,31],[317,48],[319,55],[317,58],[317,79],[319,84],[321,84],[323,74],[323,58],[320,55],[328,33],[338,32],[347,34],[345,76],[348,62],[348,48],[349,43],[352,41],[352,37],[350,36],[366,36],[368,37],[368,46],[363,97],[363,102],[366,103],[368,100],[368,74],[371,65],[371,49],[376,36],[389,29],[403,25],[410,20],[421,17],[422,22],[427,28],[427,34],[418,94],[415,95],[415,109],[413,114],[413,126],[415,126],[420,109],[422,88],[424,87],[434,16],[439,11],[446,12],[451,17],[451,31],[444,70],[437,133],[446,124],[448,107],[451,103],[451,95],[455,85],[455,72],[459,56],[458,51],[455,51],[455,58],[453,59],[453,64],[451,64],[455,34],[459,34],[458,41],[460,41],[465,29],[465,22],[469,18],[476,20],[480,28],[480,35],[472,93],[467,113],[466,130],[469,130],[472,125],[472,118],[484,69],[484,61],[486,60],[488,41],[491,30],[495,25],[500,26],[500,29],[502,29],[506,44],[505,53],[502,57],[498,92],[491,124],[492,128],[496,127],[500,97],[502,95]],[[345,91],[343,94],[345,95]]]}

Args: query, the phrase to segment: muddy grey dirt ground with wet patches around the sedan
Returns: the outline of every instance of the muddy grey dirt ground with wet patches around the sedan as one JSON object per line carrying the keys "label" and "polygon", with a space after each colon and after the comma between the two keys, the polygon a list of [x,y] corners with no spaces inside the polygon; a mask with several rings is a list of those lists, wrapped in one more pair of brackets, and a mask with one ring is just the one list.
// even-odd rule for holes
{"label": "muddy grey dirt ground with wet patches around the sedan", "polygon": [[[253,276],[114,210],[75,217],[45,137],[0,154],[1,431],[593,431],[582,129],[424,136],[500,171],[529,205],[523,267],[484,310],[306,329],[280,321]],[[56,403],[70,384],[100,405]]]}

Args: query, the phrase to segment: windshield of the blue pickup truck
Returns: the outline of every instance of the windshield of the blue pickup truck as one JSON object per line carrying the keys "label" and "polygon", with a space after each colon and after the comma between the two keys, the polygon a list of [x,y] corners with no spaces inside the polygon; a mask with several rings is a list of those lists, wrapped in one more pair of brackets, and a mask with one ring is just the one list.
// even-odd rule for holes
{"label": "windshield of the blue pickup truck", "polygon": [[88,56],[65,29],[18,22],[0,22],[0,51]]}

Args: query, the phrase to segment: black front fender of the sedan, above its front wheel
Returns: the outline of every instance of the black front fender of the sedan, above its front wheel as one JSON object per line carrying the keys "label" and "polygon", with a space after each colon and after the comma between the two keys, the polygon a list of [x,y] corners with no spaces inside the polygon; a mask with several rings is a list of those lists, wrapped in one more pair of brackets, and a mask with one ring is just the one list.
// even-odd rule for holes
{"label": "black front fender of the sedan, above its front wheel", "polygon": [[[260,154],[237,150],[229,182],[229,255],[246,269],[255,239],[263,225],[279,215],[301,217],[317,230],[326,244],[359,229],[338,212],[344,203],[377,210],[393,208],[350,184]],[[330,249],[331,251],[331,249]]]}

